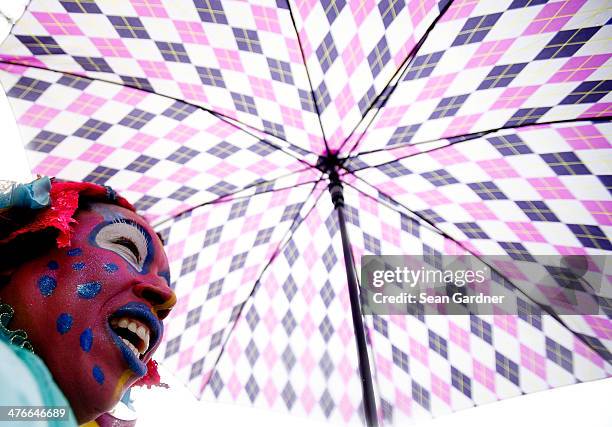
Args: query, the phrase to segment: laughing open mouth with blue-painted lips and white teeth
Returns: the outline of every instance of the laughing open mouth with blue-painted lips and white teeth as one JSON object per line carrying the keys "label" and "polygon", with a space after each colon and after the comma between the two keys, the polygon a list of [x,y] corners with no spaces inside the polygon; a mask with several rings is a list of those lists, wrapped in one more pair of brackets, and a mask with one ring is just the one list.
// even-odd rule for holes
{"label": "laughing open mouth with blue-painted lips and white teeth", "polygon": [[161,321],[145,304],[129,303],[109,316],[108,326],[128,366],[144,375],[144,360],[162,336]]}

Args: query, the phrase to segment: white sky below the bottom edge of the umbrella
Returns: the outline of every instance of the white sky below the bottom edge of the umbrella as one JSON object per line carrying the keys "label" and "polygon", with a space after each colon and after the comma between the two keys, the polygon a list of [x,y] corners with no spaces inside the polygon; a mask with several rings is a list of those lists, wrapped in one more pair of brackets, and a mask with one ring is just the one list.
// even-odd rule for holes
{"label": "white sky below the bottom edge of the umbrella", "polygon": [[[170,389],[137,389],[137,427],[201,425],[331,427],[330,424],[246,406],[200,402],[162,367]],[[611,427],[612,378],[556,388],[455,412],[419,427]],[[170,410],[170,408],[172,408]]]}

